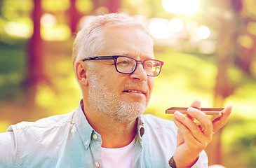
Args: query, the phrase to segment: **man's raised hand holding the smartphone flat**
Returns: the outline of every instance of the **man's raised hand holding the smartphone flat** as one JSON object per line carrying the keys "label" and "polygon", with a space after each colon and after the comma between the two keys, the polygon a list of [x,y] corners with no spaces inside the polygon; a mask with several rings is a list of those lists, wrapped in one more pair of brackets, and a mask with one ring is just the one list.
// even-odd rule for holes
{"label": "man's raised hand holding the smartphone flat", "polygon": [[[187,110],[189,116],[175,112],[173,121],[178,132],[173,158],[177,168],[191,167],[196,163],[201,151],[212,141],[213,134],[227,123],[232,110],[232,106],[227,106],[222,116],[211,121],[205,113],[198,110],[200,107],[201,102],[195,100]],[[195,119],[201,124],[197,125]]]}

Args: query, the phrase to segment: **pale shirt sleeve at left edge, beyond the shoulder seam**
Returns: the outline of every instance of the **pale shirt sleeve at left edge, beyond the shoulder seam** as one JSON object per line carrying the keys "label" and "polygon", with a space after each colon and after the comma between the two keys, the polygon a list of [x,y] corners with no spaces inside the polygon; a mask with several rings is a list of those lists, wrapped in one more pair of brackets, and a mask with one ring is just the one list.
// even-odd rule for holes
{"label": "pale shirt sleeve at left edge, beyond the shoulder seam", "polygon": [[16,144],[13,132],[0,133],[0,167],[14,167]]}

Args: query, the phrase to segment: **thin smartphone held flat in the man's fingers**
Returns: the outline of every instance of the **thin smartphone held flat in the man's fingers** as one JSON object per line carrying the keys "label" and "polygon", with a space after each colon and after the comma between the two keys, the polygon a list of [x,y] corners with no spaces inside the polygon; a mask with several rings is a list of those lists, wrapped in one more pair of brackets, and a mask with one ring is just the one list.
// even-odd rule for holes
{"label": "thin smartphone held flat in the man's fingers", "polygon": [[[188,107],[171,107],[166,109],[166,113],[174,114],[175,111],[180,111],[180,113],[187,114],[187,109]],[[223,110],[222,108],[201,108],[201,111],[206,115],[221,115]]]}

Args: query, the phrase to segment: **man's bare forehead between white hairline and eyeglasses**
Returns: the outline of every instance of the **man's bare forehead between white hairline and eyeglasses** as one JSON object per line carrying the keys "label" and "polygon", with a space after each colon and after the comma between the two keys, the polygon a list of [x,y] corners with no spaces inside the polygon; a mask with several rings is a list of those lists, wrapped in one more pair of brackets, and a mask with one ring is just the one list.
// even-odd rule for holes
{"label": "man's bare forehead between white hairline and eyeglasses", "polygon": [[150,36],[137,27],[105,27],[101,55],[144,56],[153,59],[153,42]]}

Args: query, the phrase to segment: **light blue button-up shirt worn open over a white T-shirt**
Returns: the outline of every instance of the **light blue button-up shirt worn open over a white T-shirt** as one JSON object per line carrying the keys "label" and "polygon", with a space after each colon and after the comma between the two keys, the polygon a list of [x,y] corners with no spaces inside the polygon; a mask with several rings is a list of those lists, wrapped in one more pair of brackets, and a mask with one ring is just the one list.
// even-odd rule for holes
{"label": "light blue button-up shirt worn open over a white T-shirt", "polygon": [[[170,167],[176,135],[173,121],[140,116],[133,167]],[[0,167],[102,167],[101,144],[100,134],[89,125],[79,104],[64,115],[8,127],[0,134]],[[204,151],[193,167],[208,167]]]}

